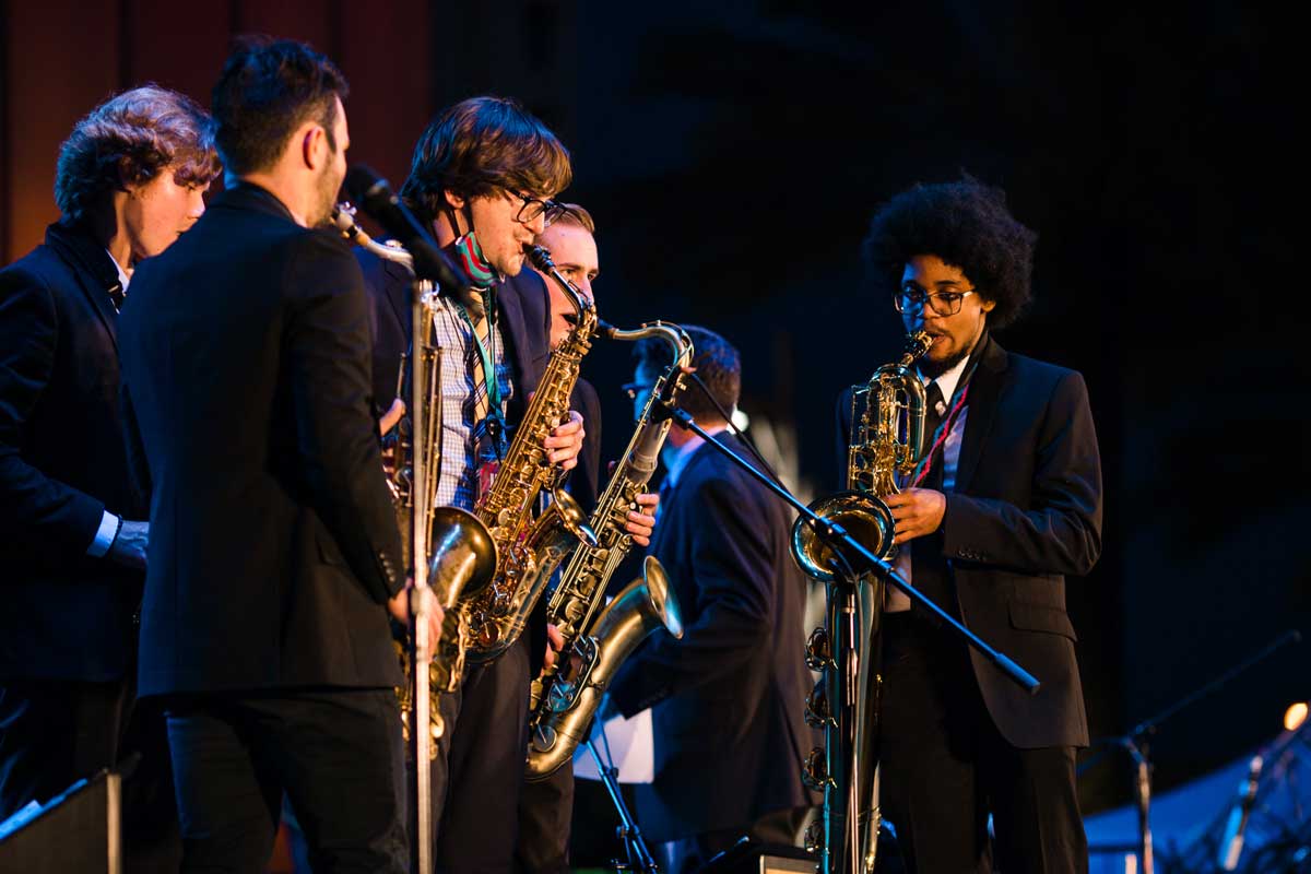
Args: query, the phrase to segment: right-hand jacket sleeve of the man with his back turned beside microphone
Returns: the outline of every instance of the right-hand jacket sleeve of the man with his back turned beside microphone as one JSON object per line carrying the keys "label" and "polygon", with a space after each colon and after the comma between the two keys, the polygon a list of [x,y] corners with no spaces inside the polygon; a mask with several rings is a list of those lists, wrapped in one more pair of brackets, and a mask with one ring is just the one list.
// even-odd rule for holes
{"label": "right-hand jacket sleeve of the man with his back turned beside microphone", "polygon": [[330,235],[299,237],[283,349],[315,508],[382,603],[404,586],[404,557],[370,410],[368,305],[359,266]]}

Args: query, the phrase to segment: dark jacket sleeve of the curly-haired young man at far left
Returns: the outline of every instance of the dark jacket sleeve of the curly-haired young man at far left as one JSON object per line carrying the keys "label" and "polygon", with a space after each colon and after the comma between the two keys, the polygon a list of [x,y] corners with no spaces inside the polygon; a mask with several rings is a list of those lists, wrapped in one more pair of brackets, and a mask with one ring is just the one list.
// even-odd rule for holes
{"label": "dark jacket sleeve of the curly-haired young man at far left", "polygon": [[22,457],[24,428],[50,381],[59,342],[55,303],[26,270],[0,273],[0,525],[4,539],[83,554],[105,504]]}

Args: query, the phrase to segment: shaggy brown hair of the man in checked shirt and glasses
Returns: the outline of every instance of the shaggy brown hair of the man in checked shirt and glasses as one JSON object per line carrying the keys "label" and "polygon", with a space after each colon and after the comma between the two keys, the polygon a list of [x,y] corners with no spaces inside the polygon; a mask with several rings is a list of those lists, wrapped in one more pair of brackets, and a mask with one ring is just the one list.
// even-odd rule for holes
{"label": "shaggy brown hair of the man in checked shirt and glasses", "polygon": [[519,101],[471,97],[444,109],[414,145],[405,203],[431,221],[446,208],[444,193],[555,195],[573,181],[569,149]]}

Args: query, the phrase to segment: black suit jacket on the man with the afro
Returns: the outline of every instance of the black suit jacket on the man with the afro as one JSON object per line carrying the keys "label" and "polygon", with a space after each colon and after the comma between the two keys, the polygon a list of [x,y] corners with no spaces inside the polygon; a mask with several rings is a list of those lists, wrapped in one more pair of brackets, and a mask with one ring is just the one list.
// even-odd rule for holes
{"label": "black suit jacket on the man with the afro", "polygon": [[[838,426],[846,466],[850,392]],[[1065,577],[1087,574],[1101,553],[1101,461],[1079,373],[988,339],[970,384],[943,544],[965,625],[1042,683],[1029,696],[970,653],[1002,735],[1019,748],[1087,746]]]}

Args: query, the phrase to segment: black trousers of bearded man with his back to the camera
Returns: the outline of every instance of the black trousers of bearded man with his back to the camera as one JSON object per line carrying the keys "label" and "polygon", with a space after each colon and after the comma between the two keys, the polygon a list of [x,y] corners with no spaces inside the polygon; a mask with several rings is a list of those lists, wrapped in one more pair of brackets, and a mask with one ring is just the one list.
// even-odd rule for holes
{"label": "black trousers of bearded man with his back to the camera", "polygon": [[182,871],[264,871],[286,793],[315,874],[408,870],[391,689],[172,698]]}

